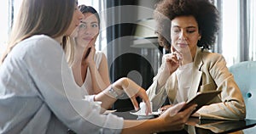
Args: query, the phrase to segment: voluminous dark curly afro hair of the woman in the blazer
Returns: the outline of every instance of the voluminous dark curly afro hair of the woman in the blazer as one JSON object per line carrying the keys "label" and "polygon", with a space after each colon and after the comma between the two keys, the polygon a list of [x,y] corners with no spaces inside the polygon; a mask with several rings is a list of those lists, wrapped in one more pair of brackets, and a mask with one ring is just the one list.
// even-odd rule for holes
{"label": "voluminous dark curly afro hair of the woman in the blazer", "polygon": [[219,29],[219,14],[208,0],[161,0],[157,3],[154,20],[157,22],[156,33],[160,46],[170,50],[171,21],[178,16],[194,16],[201,33],[197,46],[203,49],[212,47]]}

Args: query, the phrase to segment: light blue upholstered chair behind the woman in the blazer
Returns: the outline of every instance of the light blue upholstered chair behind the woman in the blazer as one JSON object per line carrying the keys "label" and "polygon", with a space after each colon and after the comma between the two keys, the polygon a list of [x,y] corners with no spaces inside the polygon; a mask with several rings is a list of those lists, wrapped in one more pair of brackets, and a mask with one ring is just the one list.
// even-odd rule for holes
{"label": "light blue upholstered chair behind the woman in the blazer", "polygon": [[[240,87],[244,98],[247,119],[256,120],[256,61],[244,61],[230,66],[230,72],[234,75],[235,81]],[[253,129],[244,130],[247,133],[254,133],[256,126]]]}

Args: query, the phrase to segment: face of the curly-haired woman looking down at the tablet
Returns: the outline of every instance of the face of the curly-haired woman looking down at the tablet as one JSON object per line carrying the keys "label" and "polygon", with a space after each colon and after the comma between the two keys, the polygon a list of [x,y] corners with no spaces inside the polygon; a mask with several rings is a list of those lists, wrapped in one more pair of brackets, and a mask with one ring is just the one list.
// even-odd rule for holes
{"label": "face of the curly-haired woman looking down at the tablet", "polygon": [[174,18],[171,23],[172,51],[191,53],[194,59],[197,42],[201,39],[195,17],[180,16]]}

